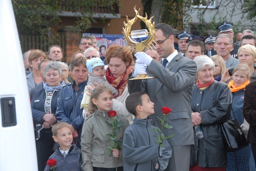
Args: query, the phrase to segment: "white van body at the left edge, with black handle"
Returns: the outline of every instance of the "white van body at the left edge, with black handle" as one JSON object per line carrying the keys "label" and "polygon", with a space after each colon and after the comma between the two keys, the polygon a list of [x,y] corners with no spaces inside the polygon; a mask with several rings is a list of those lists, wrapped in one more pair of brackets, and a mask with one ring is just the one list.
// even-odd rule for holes
{"label": "white van body at the left edge, with black handle", "polygon": [[11,0],[0,0],[0,171],[37,171],[33,121]]}

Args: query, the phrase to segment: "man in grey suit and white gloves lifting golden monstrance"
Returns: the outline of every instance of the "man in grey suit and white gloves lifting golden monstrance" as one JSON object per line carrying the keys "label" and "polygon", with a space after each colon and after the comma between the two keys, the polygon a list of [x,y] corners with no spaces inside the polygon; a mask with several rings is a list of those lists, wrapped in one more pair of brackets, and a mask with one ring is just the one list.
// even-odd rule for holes
{"label": "man in grey suit and white gloves lifting golden monstrance", "polygon": [[[152,60],[144,52],[136,53],[135,70],[130,78],[137,74],[147,73],[154,79],[129,80],[129,93],[144,91],[155,103],[155,113],[150,116],[152,124],[161,127],[163,119],[161,107],[169,107],[172,112],[167,116],[166,123],[172,129],[163,129],[172,147],[172,157],[169,160],[169,171],[188,171],[190,164],[190,147],[194,144],[194,132],[191,121],[191,91],[195,83],[197,66],[193,60],[187,59],[174,49],[174,33],[171,26],[160,23],[155,26],[156,37],[153,44],[160,56],[159,62]],[[145,67],[147,66],[147,67]],[[150,131],[150,130],[149,130]]]}

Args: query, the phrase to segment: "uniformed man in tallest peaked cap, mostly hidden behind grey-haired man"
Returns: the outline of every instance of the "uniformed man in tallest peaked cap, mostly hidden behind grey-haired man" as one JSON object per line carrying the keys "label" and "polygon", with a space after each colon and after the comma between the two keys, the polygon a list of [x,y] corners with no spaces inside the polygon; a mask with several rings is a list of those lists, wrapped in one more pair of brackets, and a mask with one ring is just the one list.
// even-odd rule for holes
{"label": "uniformed man in tallest peaked cap, mostly hidden behind grey-haired man", "polygon": [[[232,40],[234,38],[234,32],[233,32],[233,23],[232,22],[227,22],[227,21],[223,21],[222,24],[218,25],[218,27],[216,27],[216,29],[219,30],[219,34],[227,34],[229,35]],[[233,58],[237,58],[237,51],[239,49],[239,46],[233,43],[233,49],[231,49],[230,51],[230,55]],[[209,57],[213,55],[216,55],[216,51],[214,51],[214,49],[211,49],[211,52],[209,51]]]}

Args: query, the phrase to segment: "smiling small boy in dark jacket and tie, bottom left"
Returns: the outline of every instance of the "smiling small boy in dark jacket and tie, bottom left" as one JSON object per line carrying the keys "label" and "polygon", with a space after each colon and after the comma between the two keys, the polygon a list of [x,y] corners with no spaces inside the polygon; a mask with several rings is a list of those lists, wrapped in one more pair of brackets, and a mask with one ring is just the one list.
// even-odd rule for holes
{"label": "smiling small boy in dark jacket and tie, bottom left", "polygon": [[[82,171],[83,159],[81,149],[71,144],[73,142],[73,136],[69,124],[66,122],[57,122],[53,125],[52,132],[54,141],[60,145],[49,157],[49,159],[57,160],[54,171]],[[49,171],[50,169],[51,167],[46,165],[44,171]]]}

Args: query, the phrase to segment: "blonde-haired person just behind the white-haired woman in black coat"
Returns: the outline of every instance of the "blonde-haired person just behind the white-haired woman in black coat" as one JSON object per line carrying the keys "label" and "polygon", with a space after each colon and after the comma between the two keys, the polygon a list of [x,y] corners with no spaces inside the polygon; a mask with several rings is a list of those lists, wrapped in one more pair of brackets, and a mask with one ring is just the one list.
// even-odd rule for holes
{"label": "blonde-haired person just behind the white-haired woman in black coat", "polygon": [[221,81],[221,77],[226,70],[225,62],[219,55],[211,56],[211,59],[215,63],[215,71],[213,72],[213,78],[216,81]]}

